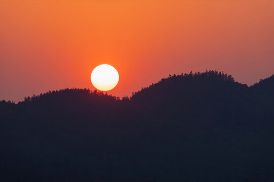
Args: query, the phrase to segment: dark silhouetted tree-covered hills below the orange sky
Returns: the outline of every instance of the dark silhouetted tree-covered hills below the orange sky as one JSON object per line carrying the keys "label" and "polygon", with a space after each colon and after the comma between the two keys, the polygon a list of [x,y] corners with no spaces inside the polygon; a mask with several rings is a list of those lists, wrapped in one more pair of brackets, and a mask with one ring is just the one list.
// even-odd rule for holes
{"label": "dark silhouetted tree-covered hills below the orange sky", "polygon": [[271,76],[174,75],[119,100],[64,89],[0,104],[0,181],[274,181]]}

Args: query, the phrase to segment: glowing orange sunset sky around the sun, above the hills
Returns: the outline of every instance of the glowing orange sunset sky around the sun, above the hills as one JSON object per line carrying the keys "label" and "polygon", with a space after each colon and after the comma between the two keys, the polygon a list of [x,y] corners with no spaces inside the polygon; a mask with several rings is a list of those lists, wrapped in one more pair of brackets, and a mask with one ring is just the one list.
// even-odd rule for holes
{"label": "glowing orange sunset sky around the sun, above the hills", "polygon": [[274,1],[0,0],[0,100],[94,89],[100,64],[120,97],[191,70],[251,85],[274,73]]}

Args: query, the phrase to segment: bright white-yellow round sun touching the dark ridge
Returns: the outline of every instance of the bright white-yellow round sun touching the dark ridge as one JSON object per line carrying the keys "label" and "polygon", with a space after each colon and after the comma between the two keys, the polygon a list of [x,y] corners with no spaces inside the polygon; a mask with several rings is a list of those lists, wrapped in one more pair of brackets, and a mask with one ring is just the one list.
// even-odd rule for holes
{"label": "bright white-yellow round sun touching the dark ridge", "polygon": [[119,74],[113,66],[102,64],[93,69],[90,78],[95,88],[108,91],[117,85]]}

